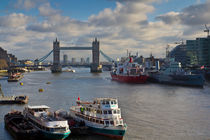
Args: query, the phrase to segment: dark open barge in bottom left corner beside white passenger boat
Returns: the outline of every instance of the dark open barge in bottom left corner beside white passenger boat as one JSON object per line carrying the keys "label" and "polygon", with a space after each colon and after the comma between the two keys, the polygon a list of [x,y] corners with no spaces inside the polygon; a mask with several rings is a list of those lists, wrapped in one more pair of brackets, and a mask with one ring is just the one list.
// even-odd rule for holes
{"label": "dark open barge in bottom left corner beside white passenger boat", "polygon": [[19,111],[12,111],[4,116],[5,128],[16,140],[35,140],[39,131],[31,125]]}

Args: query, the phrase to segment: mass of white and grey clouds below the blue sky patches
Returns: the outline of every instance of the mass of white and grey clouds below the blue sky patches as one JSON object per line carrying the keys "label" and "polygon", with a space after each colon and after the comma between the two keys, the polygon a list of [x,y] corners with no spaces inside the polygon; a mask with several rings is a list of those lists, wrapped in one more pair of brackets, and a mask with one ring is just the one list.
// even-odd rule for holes
{"label": "mass of white and grey clouds below the blue sky patches", "polygon": [[163,56],[168,43],[202,35],[202,24],[209,23],[209,7],[208,2],[200,3],[181,12],[160,15],[159,21],[148,21],[148,13],[155,11],[151,3],[125,0],[116,2],[115,9],[106,8],[87,21],[80,21],[63,16],[50,3],[44,3],[38,6],[42,21],[17,13],[0,17],[0,46],[15,50],[19,58],[35,59],[52,49],[56,37],[62,46],[91,46],[96,36],[101,49],[113,58],[125,55],[127,49],[143,56],[151,52]]}

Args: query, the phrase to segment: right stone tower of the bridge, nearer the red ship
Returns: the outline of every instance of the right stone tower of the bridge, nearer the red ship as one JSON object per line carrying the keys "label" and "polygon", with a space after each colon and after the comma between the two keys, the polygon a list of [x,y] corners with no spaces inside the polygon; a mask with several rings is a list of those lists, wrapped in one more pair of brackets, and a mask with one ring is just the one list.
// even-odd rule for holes
{"label": "right stone tower of the bridge, nearer the red ship", "polygon": [[92,64],[91,64],[91,72],[102,72],[102,66],[99,62],[99,41],[95,38],[95,41],[92,42]]}

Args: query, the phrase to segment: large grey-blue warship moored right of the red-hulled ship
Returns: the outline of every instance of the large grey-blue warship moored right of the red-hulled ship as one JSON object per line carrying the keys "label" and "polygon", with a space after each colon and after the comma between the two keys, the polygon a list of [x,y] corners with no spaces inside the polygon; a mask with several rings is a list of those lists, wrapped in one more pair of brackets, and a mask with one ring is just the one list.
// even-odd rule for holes
{"label": "large grey-blue warship moored right of the red-hulled ship", "polygon": [[205,83],[202,74],[192,74],[181,67],[180,62],[170,59],[169,66],[158,73],[151,73],[150,77],[159,83],[203,87]]}

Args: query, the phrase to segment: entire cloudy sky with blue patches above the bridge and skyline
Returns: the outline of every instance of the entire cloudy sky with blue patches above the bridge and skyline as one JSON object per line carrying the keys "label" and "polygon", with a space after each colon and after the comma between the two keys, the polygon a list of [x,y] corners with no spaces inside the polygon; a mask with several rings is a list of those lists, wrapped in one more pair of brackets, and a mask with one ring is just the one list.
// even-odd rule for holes
{"label": "entire cloudy sky with blue patches above the bridge and skyline", "polygon": [[56,37],[61,46],[91,46],[98,37],[114,59],[127,49],[163,57],[167,44],[206,37],[209,13],[210,0],[0,0],[0,46],[19,59],[35,59],[52,50]]}

